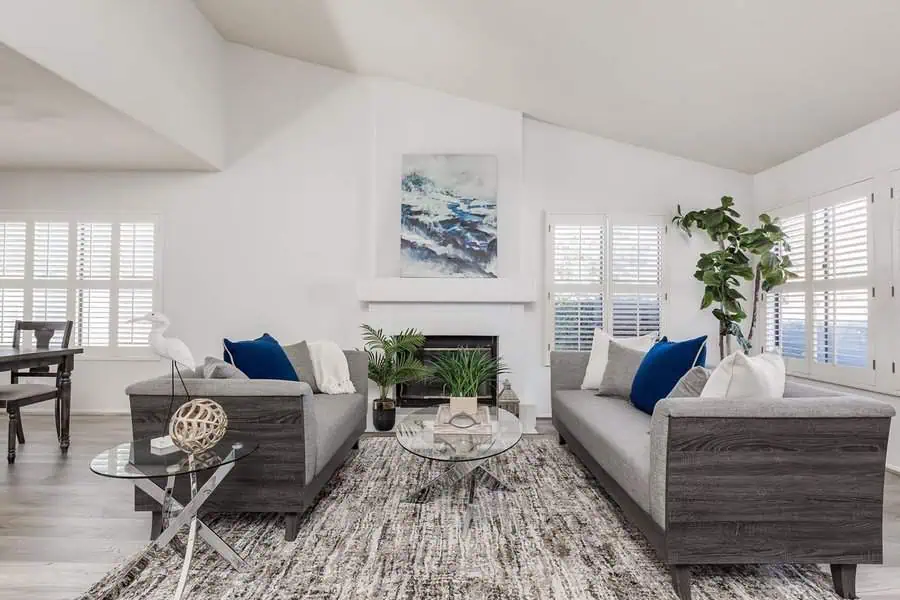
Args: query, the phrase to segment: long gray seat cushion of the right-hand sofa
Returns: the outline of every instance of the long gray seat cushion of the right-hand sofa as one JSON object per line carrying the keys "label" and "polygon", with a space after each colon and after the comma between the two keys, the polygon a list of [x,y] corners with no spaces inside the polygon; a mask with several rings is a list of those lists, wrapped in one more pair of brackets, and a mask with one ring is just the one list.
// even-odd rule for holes
{"label": "long gray seat cushion of the right-hand sofa", "polygon": [[650,417],[627,400],[559,390],[553,416],[638,506],[650,512]]}

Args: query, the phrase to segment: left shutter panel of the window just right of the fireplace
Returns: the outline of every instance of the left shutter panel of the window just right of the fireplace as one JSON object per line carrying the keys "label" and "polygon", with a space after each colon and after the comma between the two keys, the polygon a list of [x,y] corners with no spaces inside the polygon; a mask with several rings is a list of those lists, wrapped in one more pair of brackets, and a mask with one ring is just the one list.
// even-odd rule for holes
{"label": "left shutter panel of the window just right of the fireplace", "polygon": [[568,217],[581,223],[551,223],[552,348],[589,351],[594,329],[603,326],[606,220]]}

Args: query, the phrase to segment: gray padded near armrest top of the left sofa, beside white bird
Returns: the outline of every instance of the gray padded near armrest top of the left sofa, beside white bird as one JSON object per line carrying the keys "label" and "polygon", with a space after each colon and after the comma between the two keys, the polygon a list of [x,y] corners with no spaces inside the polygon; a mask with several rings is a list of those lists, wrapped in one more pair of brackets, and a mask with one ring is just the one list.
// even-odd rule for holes
{"label": "gray padded near armrest top of the left sofa, beside white bird", "polygon": [[[297,397],[312,396],[309,384],[277,379],[185,379],[175,380],[175,395],[184,396],[187,387],[191,397]],[[129,396],[169,396],[172,380],[168,376],[133,383],[125,388]]]}

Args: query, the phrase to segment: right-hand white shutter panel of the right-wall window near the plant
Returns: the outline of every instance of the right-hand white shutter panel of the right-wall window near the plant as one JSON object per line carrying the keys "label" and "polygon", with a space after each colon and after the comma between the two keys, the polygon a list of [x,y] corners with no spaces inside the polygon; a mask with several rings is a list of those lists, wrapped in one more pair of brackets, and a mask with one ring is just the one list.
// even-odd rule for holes
{"label": "right-hand white shutter panel of the right-wall window near the plant", "polygon": [[869,197],[812,212],[813,362],[869,363]]}

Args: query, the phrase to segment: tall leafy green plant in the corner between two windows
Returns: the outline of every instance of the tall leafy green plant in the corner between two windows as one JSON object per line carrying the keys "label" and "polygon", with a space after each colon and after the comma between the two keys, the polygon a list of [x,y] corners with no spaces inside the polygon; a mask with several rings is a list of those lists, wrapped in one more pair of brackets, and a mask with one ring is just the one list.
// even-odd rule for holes
{"label": "tall leafy green plant in the corner between two windows", "polygon": [[[700,308],[715,304],[713,316],[719,322],[719,356],[725,357],[726,344],[730,351],[731,336],[744,352],[753,347],[753,334],[763,295],[790,278],[796,277],[789,268],[790,248],[784,232],[769,215],[759,216],[759,226],[749,229],[738,219],[734,199],[723,196],[720,206],[682,214],[681,206],[672,222],[688,236],[697,229],[706,232],[718,249],[700,254],[694,278],[703,282],[704,292]],[[779,252],[779,249],[784,250]],[[741,322],[747,318],[740,291],[741,280],[753,280],[753,301],[750,329],[745,336]]]}

